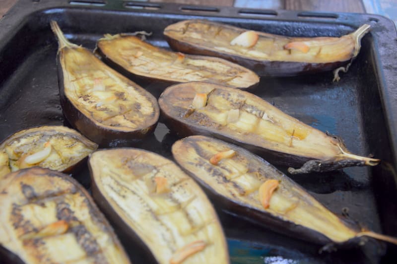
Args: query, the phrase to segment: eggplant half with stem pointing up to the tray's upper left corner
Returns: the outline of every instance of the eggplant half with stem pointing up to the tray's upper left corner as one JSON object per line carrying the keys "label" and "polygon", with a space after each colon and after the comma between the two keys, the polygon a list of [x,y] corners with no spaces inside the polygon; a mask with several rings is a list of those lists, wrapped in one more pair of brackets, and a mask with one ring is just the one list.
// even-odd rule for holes
{"label": "eggplant half with stem pointing up to the tray's upper left corner", "polygon": [[159,117],[156,98],[67,41],[57,22],[51,21],[51,28],[59,42],[60,100],[69,123],[100,145],[135,141],[152,132]]}

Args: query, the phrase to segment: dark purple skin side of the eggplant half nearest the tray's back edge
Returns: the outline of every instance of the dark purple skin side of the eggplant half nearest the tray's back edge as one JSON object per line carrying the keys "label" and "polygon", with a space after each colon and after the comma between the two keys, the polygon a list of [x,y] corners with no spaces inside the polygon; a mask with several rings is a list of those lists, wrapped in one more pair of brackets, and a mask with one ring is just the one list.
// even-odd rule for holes
{"label": "dark purple skin side of the eggplant half nearest the tray's back edge", "polygon": [[257,61],[239,56],[218,53],[212,50],[204,49],[189,43],[180,42],[165,35],[165,39],[171,49],[187,54],[205,55],[219,57],[232,63],[244,66],[256,72],[259,76],[295,76],[302,74],[314,74],[322,71],[329,71],[335,68],[345,66],[350,61],[333,62],[333,63],[300,63],[300,62],[277,62],[277,61]]}

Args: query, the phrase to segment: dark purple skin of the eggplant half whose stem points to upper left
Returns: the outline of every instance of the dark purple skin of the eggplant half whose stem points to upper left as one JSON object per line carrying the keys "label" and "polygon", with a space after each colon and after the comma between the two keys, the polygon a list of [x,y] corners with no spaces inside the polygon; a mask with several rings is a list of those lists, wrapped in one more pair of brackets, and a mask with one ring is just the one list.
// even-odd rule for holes
{"label": "dark purple skin of the eggplant half whose stem points to upper left", "polygon": [[[59,52],[57,55],[57,65],[58,65],[58,85],[59,85],[59,95],[62,110],[67,121],[79,132],[85,135],[90,140],[99,144],[100,147],[109,146],[117,144],[118,142],[136,143],[141,141],[150,133],[154,132],[157,126],[157,122],[153,123],[147,128],[141,130],[136,130],[132,132],[116,131],[107,128],[97,126],[91,119],[87,118],[82,114],[67,98],[64,89],[64,73],[60,63]],[[159,107],[154,104],[153,107],[155,111],[153,116],[159,115]]]}

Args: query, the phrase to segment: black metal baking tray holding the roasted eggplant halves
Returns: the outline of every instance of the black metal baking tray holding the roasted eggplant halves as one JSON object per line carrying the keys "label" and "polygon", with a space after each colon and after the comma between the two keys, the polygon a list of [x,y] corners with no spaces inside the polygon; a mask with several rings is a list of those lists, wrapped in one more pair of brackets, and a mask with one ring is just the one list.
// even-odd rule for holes
{"label": "black metal baking tray holding the roasted eggplant halves", "polygon": [[[396,29],[391,20],[378,15],[122,0],[21,0],[0,20],[0,141],[33,126],[69,126],[59,102],[58,44],[51,20],[58,21],[73,43],[89,49],[105,33],[141,30],[153,32],[148,42],[167,48],[163,29],[193,18],[289,36],[341,36],[364,23],[372,26],[362,40],[361,53],[339,82],[332,82],[331,72],[262,78],[252,92],[308,125],[340,135],[352,152],[382,159],[376,167],[290,177],[333,212],[347,208],[351,220],[397,236]],[[134,81],[156,97],[164,89],[159,82]],[[170,147],[176,139],[160,122],[153,135],[132,146],[172,158]],[[89,188],[86,169],[73,177]],[[319,254],[318,245],[273,233],[227,211],[219,215],[232,263],[386,263],[397,259],[396,246],[371,240],[357,249]],[[129,254],[135,263],[144,263],[139,252],[129,249]]]}

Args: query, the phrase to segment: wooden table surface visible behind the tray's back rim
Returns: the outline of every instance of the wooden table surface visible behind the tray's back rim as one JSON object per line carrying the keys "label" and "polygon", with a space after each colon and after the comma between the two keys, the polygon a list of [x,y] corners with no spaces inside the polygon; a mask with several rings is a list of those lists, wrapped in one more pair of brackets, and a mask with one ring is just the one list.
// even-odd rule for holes
{"label": "wooden table surface visible behind the tray's back rim", "polygon": [[[0,0],[0,17],[17,0]],[[149,0],[185,4],[239,6],[249,8],[365,13],[362,0]]]}

